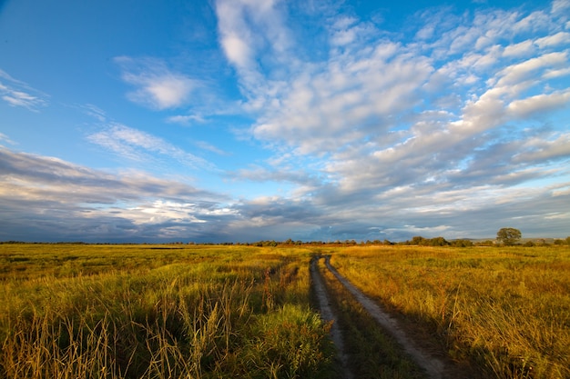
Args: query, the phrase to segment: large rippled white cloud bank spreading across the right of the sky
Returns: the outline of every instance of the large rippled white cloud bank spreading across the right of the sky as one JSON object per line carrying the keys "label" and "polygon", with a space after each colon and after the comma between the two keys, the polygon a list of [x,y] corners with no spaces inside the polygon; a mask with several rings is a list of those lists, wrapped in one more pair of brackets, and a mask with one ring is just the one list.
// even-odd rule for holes
{"label": "large rippled white cloud bank spreading across the right of the sky", "polygon": [[[355,229],[382,224],[377,216],[362,216],[372,212],[402,230],[412,225],[435,233],[439,226],[428,224],[440,223],[459,235],[453,225],[464,224],[462,217],[482,217],[497,204],[504,219],[521,216],[523,204],[536,217],[545,214],[530,198],[549,212],[561,205],[550,189],[534,183],[553,176],[567,181],[566,134],[549,132],[553,126],[545,121],[570,105],[566,82],[555,81],[569,65],[568,35],[556,26],[563,25],[565,2],[553,3],[552,13],[426,12],[403,37],[355,16],[330,15],[323,27],[328,42],[318,55],[325,58],[302,61],[297,55],[290,66],[272,61],[263,67],[259,62],[268,53],[249,33],[257,27],[250,20],[262,12],[239,5],[242,10],[228,11],[229,17],[227,3],[217,4],[222,46],[228,30],[252,42],[241,50],[242,61],[227,55],[239,70],[247,67],[238,72],[249,103],[264,105],[249,108],[257,116],[251,134],[279,151],[267,162],[271,169],[250,167],[237,176],[295,183],[296,199],[334,214],[319,214],[315,233],[344,233],[340,220]],[[281,35],[294,35],[287,12],[273,3],[270,9],[281,12]],[[296,44],[302,41],[290,40],[290,51],[300,51]],[[274,84],[274,72],[288,73],[285,85]],[[271,91],[260,94],[259,88]],[[299,167],[296,175],[291,166]],[[527,185],[527,192],[517,185]],[[525,199],[514,200],[518,194]],[[264,217],[256,220],[269,219]]]}

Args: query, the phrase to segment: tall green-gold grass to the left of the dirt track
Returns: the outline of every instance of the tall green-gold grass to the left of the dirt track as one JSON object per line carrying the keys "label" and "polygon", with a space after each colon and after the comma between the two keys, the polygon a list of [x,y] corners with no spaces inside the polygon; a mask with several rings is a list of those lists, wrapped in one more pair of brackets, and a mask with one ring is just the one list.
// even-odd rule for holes
{"label": "tall green-gold grass to the left of the dirt track", "polygon": [[0,244],[2,378],[326,378],[311,252]]}

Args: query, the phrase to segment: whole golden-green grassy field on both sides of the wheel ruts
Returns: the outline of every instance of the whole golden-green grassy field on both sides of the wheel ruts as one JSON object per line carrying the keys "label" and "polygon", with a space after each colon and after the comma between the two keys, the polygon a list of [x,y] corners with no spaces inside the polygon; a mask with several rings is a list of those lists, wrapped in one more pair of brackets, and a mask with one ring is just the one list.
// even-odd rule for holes
{"label": "whole golden-green grassy field on both sides of the wheel ruts", "polygon": [[[473,376],[570,377],[567,246],[0,244],[0,378],[338,377],[315,254]],[[354,377],[422,377],[320,266]]]}

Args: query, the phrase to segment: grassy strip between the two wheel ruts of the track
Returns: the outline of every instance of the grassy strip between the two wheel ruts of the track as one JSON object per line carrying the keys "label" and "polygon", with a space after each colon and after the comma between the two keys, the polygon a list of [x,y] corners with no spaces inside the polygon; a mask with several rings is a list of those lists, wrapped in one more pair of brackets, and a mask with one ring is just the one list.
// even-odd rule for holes
{"label": "grassy strip between the two wheel ruts of the track", "polygon": [[352,294],[319,261],[319,271],[331,294],[331,306],[338,317],[345,350],[349,352],[355,378],[422,378],[424,374],[412,358],[386,334]]}

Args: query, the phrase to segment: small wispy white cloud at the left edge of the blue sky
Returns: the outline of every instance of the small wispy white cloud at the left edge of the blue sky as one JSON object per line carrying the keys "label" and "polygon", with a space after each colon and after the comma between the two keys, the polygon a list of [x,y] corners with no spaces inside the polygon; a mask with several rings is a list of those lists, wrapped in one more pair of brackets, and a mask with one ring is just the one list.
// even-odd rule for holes
{"label": "small wispy white cloud at the left edge of the blue sky", "polygon": [[22,106],[32,112],[45,107],[48,96],[16,80],[0,69],[0,96],[10,106]]}

